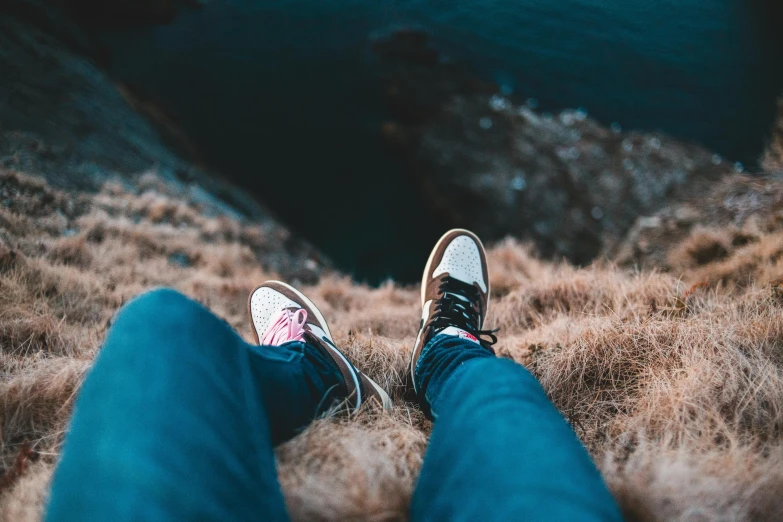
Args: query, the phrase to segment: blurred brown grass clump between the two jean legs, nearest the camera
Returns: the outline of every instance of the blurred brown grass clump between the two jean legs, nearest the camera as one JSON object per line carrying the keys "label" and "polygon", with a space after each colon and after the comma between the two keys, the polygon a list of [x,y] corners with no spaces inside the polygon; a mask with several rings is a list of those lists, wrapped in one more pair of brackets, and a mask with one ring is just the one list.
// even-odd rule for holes
{"label": "blurred brown grass clump between the two jean legs, nearest the camera", "polygon": [[[295,520],[405,520],[427,443],[421,413],[363,411],[315,422],[278,450]],[[338,494],[335,494],[339,492]]]}

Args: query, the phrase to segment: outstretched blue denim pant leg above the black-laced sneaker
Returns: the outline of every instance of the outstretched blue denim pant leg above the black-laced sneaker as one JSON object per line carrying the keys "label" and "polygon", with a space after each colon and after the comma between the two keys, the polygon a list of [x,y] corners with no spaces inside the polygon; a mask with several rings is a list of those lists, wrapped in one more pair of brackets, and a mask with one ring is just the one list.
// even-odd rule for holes
{"label": "outstretched blue denim pant leg above the black-laced sneaker", "polygon": [[416,376],[435,424],[414,522],[622,520],[587,451],[523,366],[440,335]]}

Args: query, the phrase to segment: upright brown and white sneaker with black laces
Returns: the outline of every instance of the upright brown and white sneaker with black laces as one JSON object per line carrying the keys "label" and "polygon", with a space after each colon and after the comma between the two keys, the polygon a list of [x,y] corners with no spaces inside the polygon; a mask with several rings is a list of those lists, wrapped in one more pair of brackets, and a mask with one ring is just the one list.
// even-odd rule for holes
{"label": "upright brown and white sneaker with black laces", "polygon": [[[446,232],[435,244],[421,281],[421,324],[411,355],[414,389],[416,363],[422,349],[435,335],[454,335],[492,349],[491,345],[497,341],[494,332],[481,329],[488,304],[484,245],[467,230]],[[491,340],[482,339],[482,335]]]}

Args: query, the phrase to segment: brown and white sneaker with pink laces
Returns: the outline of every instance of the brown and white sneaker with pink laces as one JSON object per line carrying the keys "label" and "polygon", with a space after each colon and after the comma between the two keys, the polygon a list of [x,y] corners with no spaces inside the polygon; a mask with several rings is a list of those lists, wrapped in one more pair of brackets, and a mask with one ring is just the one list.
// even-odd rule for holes
{"label": "brown and white sneaker with pink laces", "polygon": [[253,335],[261,345],[279,346],[302,341],[320,349],[337,365],[345,382],[349,408],[365,402],[391,409],[389,395],[357,370],[340,352],[321,311],[300,291],[280,281],[267,281],[250,294],[247,302]]}

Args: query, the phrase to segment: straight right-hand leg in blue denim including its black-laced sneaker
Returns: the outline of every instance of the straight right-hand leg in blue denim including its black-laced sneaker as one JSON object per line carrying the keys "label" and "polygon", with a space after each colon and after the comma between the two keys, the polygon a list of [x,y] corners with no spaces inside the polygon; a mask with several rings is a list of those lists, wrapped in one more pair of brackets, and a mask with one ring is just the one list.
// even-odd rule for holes
{"label": "straight right-hand leg in blue denim including its black-laced sneaker", "polygon": [[489,277],[478,237],[452,230],[438,241],[421,295],[411,374],[435,425],[412,520],[621,520],[587,451],[536,379],[495,357],[494,332],[482,330]]}

